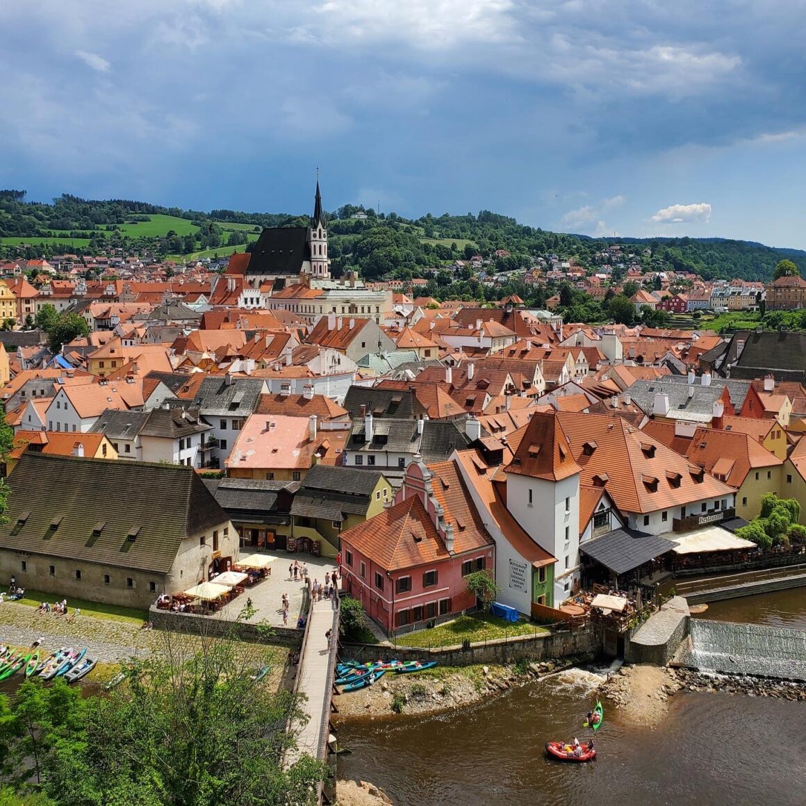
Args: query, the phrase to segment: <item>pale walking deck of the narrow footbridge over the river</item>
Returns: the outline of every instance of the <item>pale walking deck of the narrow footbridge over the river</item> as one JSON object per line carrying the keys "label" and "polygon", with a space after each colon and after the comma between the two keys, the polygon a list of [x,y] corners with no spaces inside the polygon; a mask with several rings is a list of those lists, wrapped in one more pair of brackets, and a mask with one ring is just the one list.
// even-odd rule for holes
{"label": "pale walking deck of the narrow footbridge over the river", "polygon": [[333,603],[320,600],[311,604],[308,640],[302,650],[297,668],[296,691],[307,698],[301,710],[310,718],[305,725],[293,725],[297,729],[297,750],[286,754],[285,763],[290,767],[301,754],[319,758],[322,731],[330,719],[330,654],[335,654],[338,641],[334,636],[328,646],[326,632],[333,627]]}

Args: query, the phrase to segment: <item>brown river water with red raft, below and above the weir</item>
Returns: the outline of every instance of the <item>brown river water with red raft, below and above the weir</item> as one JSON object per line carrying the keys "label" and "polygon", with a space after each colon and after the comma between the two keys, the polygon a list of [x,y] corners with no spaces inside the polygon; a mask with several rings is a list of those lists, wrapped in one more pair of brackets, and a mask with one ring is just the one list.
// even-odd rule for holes
{"label": "brown river water with red raft, below and above the weir", "polygon": [[[806,592],[717,603],[704,617],[806,629]],[[549,739],[587,740],[580,725],[602,671],[570,670],[439,717],[343,725],[352,753],[339,777],[371,781],[401,806],[806,804],[806,704],[679,692],[650,729],[605,703],[595,762],[546,759]]]}

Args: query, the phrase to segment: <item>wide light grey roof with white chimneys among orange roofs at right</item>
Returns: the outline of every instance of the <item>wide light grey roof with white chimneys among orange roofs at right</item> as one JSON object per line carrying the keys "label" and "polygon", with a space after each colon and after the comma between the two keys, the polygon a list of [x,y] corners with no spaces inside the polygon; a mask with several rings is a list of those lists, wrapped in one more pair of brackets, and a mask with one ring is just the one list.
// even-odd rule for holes
{"label": "wide light grey roof with white chimneys among orange roofs at right", "polygon": [[[653,413],[655,393],[665,392],[669,396],[669,416],[686,419],[711,419],[714,401],[717,401],[722,390],[728,387],[730,400],[738,413],[747,397],[750,382],[747,380],[725,380],[719,376],[712,376],[711,385],[703,386],[700,378],[689,387],[686,376],[663,376],[658,380],[637,380],[627,390],[630,397],[645,413]],[[689,388],[694,390],[693,396],[688,397]],[[733,412],[725,409],[725,414]]]}

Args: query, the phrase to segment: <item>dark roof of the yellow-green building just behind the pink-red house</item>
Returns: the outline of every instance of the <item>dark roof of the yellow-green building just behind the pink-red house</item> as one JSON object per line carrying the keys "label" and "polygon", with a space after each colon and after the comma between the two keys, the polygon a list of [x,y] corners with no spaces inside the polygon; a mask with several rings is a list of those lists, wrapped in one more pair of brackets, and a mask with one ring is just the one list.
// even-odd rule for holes
{"label": "dark roof of the yellow-green building just behind the pink-red house", "polygon": [[294,496],[291,514],[327,521],[343,521],[348,514],[365,515],[381,476],[377,471],[315,465]]}

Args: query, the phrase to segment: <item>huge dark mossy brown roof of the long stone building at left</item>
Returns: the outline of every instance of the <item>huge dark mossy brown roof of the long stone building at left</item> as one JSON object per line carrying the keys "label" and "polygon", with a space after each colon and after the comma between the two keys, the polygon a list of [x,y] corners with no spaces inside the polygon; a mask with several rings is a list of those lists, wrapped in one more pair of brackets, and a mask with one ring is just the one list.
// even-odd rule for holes
{"label": "huge dark mossy brown roof of the long stone building at left", "polygon": [[164,574],[183,539],[229,520],[197,473],[181,465],[26,452],[6,484],[0,548],[77,562]]}

